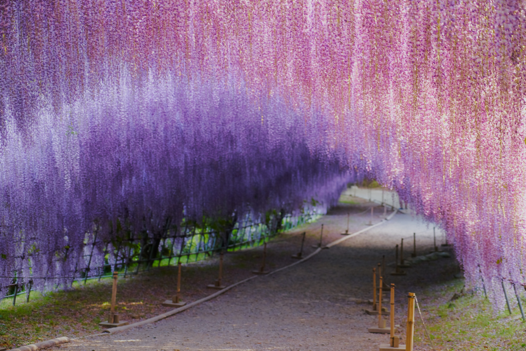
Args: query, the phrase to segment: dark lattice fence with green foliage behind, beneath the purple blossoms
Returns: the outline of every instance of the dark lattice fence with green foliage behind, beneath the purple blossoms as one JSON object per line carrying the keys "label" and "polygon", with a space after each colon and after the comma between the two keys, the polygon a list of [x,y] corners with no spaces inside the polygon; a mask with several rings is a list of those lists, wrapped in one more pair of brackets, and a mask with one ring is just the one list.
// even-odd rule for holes
{"label": "dark lattice fence with green foliage behind, beneath the purple blossoms", "polygon": [[[44,284],[52,282],[55,286],[58,286],[61,280],[70,285],[75,282],[86,284],[87,280],[111,277],[114,271],[119,271],[121,276],[136,275],[154,267],[171,266],[179,262],[196,262],[213,257],[220,252],[235,252],[244,248],[255,247],[264,240],[276,236],[279,232],[301,224],[311,223],[319,216],[320,210],[311,208],[304,210],[299,215],[287,214],[280,218],[281,223],[278,223],[279,218],[277,217],[254,222],[245,218],[245,220],[235,223],[227,235],[219,230],[212,230],[211,228],[204,230],[195,225],[186,224],[179,232],[171,233],[167,230],[163,235],[157,237],[130,234],[128,237],[114,240],[114,242],[104,242],[98,238],[97,230],[94,230],[91,240],[87,240],[84,247],[80,248],[87,252],[83,255],[86,262],[84,269],[77,270],[75,267],[73,275],[64,276],[28,276],[27,274],[22,275],[22,269],[15,270],[13,275],[4,274],[0,278],[11,279],[11,283],[0,285],[0,293],[7,289],[7,294],[0,298],[0,301],[13,298],[14,305],[16,304],[16,296],[26,294],[26,302],[29,302],[29,294],[35,285],[34,280],[43,281]],[[99,255],[104,254],[102,264],[94,262],[97,250]],[[2,258],[24,260],[24,256]],[[64,259],[67,259],[67,253]],[[30,266],[29,269],[25,269],[25,272],[31,274],[31,270]]]}

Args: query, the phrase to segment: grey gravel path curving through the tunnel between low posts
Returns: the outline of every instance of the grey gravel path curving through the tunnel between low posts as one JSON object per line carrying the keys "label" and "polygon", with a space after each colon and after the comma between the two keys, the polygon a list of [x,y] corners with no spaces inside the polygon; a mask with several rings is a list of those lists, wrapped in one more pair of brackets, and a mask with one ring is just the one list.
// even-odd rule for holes
{"label": "grey gravel path curving through the tunnel between low posts", "polygon": [[[362,201],[359,209],[367,205],[371,204]],[[324,244],[341,238],[340,233],[347,227],[347,213],[358,212],[355,207],[340,204],[307,230],[315,232],[323,223]],[[374,222],[380,220],[382,212],[383,209],[377,208]],[[365,228],[368,220],[368,215],[351,215],[351,232]],[[303,230],[305,228],[297,233]],[[380,262],[382,255],[386,255],[388,263],[392,262],[395,245],[413,232],[418,233],[420,253],[427,253],[433,245],[433,228],[418,218],[399,213],[389,222],[322,250],[302,264],[252,279],[178,315],[115,335],[73,340],[60,348],[79,351],[377,350],[380,343],[388,342],[388,336],[367,332],[368,327],[377,323],[376,316],[363,312],[370,306],[365,300],[372,295],[371,268]],[[437,238],[440,235],[437,232]],[[412,245],[412,240],[410,243]],[[272,247],[271,243],[269,253]],[[412,270],[407,277],[388,275],[387,282],[395,283],[404,293],[418,294],[427,284],[426,279],[430,279],[430,273],[438,272],[446,261],[454,264],[453,259],[437,260],[408,268]],[[388,268],[388,272],[391,270]],[[406,297],[397,294],[396,301],[395,323],[404,326]],[[404,330],[402,337],[403,334]],[[415,349],[418,350],[418,346]]]}

